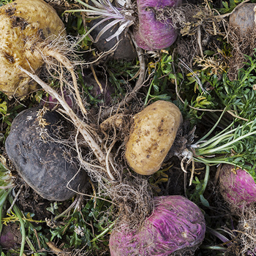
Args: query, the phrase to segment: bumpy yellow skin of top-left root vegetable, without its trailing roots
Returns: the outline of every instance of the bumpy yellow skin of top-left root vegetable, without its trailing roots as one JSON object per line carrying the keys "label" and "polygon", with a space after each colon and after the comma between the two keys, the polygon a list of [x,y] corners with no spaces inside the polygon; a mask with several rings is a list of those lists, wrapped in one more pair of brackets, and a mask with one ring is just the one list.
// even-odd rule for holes
{"label": "bumpy yellow skin of top-left root vegetable, without its trailing roots", "polygon": [[23,97],[37,83],[18,66],[38,74],[44,63],[38,48],[51,35],[65,35],[64,23],[45,1],[17,0],[0,7],[0,33],[0,91]]}

